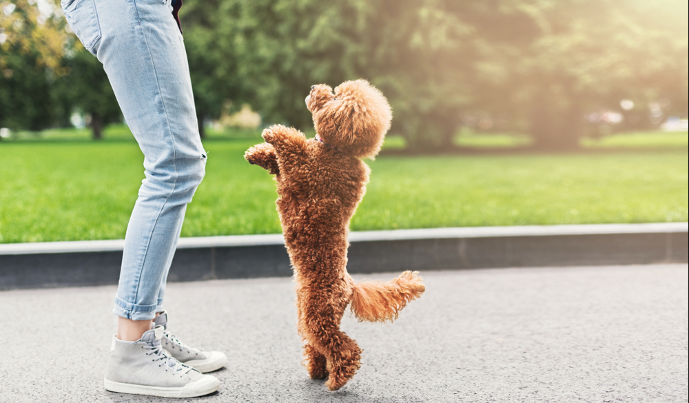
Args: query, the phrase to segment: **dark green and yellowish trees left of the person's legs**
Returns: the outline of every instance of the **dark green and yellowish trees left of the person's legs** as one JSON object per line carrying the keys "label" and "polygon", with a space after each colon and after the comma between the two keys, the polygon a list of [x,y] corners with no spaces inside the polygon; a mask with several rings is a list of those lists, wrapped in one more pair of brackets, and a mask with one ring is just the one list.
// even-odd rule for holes
{"label": "dark green and yellowish trees left of the person's legs", "polygon": [[88,114],[94,138],[121,112],[101,63],[68,34],[59,2],[0,3],[0,127],[41,130]]}

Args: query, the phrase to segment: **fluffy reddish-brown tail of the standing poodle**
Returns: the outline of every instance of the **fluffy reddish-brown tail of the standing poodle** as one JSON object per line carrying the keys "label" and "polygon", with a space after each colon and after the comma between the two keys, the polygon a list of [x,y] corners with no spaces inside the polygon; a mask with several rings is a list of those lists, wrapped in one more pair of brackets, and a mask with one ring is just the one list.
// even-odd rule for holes
{"label": "fluffy reddish-brown tail of the standing poodle", "polygon": [[384,322],[397,319],[407,303],[426,291],[418,271],[404,271],[387,284],[362,282],[354,285],[351,311],[358,320]]}

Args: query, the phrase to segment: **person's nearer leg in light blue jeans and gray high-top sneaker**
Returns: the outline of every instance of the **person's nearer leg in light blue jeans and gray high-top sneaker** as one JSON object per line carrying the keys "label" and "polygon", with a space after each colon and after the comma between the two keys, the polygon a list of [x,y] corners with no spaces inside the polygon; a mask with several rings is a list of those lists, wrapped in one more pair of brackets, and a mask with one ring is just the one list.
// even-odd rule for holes
{"label": "person's nearer leg in light blue jeans and gray high-top sneaker", "polygon": [[166,397],[212,393],[218,380],[169,355],[161,346],[163,327],[151,329],[206,159],[170,0],[63,0],[62,6],[79,39],[103,63],[145,156],[146,178],[125,237],[114,307],[119,329],[106,362],[105,389]]}

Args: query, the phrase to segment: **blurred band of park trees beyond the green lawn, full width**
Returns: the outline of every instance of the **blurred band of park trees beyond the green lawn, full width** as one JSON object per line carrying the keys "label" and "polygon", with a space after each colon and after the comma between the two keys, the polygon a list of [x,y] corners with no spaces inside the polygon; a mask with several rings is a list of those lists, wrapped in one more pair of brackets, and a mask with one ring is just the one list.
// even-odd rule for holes
{"label": "blurred band of park trees beyond the green lawn, full width", "polygon": [[[121,123],[59,2],[0,5],[3,138],[84,125],[101,138]],[[391,101],[390,134],[424,152],[462,134],[571,149],[615,132],[687,130],[687,15],[680,0],[187,0],[181,10],[202,134],[308,130],[313,83],[363,77]]]}

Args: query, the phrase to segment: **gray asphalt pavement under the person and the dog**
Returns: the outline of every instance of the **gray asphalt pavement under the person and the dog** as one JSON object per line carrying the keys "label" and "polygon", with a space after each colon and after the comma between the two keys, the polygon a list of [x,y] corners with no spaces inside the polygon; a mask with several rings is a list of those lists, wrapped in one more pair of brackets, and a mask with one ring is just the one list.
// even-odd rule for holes
{"label": "gray asphalt pavement under the person and the dog", "polygon": [[[394,324],[344,321],[363,363],[334,393],[300,366],[291,279],[170,284],[171,330],[229,357],[220,391],[189,401],[688,401],[686,264],[422,276]],[[103,389],[114,292],[0,291],[0,402],[169,401]]]}

